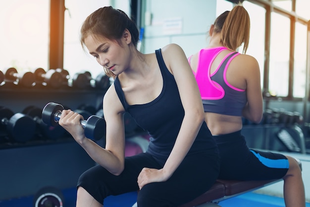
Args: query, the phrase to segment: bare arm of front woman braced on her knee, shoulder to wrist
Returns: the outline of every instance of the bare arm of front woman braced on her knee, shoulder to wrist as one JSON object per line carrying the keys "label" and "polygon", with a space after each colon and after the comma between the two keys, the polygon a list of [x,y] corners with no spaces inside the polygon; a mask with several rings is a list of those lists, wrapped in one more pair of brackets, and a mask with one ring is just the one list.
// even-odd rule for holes
{"label": "bare arm of front woman braced on her knee, shoulder to wrist", "polygon": [[174,147],[163,167],[168,179],[180,165],[190,150],[205,119],[200,92],[183,50],[177,45],[169,45],[162,49],[163,58],[170,68],[185,110],[184,119]]}

